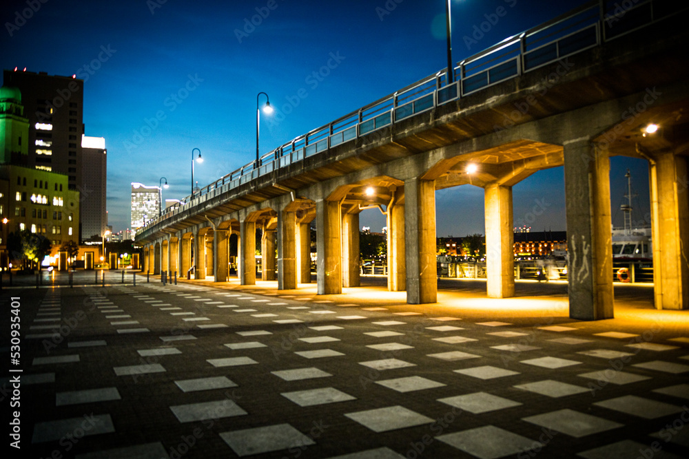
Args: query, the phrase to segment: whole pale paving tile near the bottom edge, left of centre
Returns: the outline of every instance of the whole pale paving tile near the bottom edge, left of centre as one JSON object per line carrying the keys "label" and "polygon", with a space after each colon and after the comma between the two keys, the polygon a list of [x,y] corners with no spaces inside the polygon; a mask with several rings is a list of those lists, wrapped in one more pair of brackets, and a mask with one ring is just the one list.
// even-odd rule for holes
{"label": "whole pale paving tile near the bottom edge, left of centre", "polygon": [[222,438],[238,456],[280,451],[316,445],[311,437],[305,436],[289,424],[269,425],[228,432],[220,432]]}

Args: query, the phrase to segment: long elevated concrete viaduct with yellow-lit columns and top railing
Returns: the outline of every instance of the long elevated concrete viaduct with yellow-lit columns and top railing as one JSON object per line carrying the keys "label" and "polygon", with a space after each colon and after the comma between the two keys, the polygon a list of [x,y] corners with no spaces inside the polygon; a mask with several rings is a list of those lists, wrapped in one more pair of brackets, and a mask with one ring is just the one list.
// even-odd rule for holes
{"label": "long elevated concrete viaduct with yellow-lit columns and top railing", "polygon": [[[462,61],[458,83],[439,72],[207,186],[136,234],[143,266],[225,281],[236,235],[241,284],[256,282],[260,243],[264,279],[293,289],[310,281],[315,220],[318,294],[340,294],[359,284],[358,214],[376,206],[387,216],[389,290],[434,303],[435,191],[471,184],[485,195],[487,293],[511,297],[512,187],[564,166],[570,317],[611,318],[609,158],[624,155],[650,164],[655,306],[688,309],[688,10],[650,9],[641,25],[646,10],[635,10],[615,30],[601,8],[586,3]],[[591,11],[590,23],[529,45]]]}

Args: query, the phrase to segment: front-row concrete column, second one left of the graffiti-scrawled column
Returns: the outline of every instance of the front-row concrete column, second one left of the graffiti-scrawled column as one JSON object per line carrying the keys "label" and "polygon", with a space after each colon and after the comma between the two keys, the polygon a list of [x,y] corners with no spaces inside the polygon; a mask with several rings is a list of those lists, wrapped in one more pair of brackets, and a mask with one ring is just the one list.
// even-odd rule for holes
{"label": "front-row concrete column, second one left of the graffiti-scrawled column", "polygon": [[341,222],[339,202],[316,201],[318,295],[342,293]]}

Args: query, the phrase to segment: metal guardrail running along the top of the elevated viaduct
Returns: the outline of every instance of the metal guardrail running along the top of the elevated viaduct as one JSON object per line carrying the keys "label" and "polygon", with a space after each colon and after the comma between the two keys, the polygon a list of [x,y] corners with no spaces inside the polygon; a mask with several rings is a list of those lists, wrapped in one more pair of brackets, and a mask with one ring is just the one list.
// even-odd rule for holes
{"label": "metal guardrail running along the top of the elevated viaduct", "polygon": [[455,81],[451,84],[447,84],[447,71],[440,70],[265,153],[258,164],[255,160],[249,162],[187,196],[183,203],[170,206],[163,215],[147,222],[137,234],[262,175],[567,56],[619,39],[688,8],[686,3],[681,5],[678,7],[670,0],[645,0],[631,8],[621,8],[615,1],[588,1],[562,16],[510,36],[460,61],[453,69]]}

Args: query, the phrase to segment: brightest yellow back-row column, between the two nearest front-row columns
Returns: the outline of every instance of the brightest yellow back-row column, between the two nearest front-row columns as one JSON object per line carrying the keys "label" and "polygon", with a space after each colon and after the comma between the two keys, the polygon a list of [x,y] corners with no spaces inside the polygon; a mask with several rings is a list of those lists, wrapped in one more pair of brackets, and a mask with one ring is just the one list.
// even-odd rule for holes
{"label": "brightest yellow back-row column, between the two nearest front-row columns", "polygon": [[489,298],[515,296],[512,187],[491,184],[484,191],[486,209],[486,287]]}

